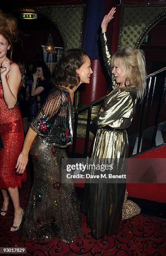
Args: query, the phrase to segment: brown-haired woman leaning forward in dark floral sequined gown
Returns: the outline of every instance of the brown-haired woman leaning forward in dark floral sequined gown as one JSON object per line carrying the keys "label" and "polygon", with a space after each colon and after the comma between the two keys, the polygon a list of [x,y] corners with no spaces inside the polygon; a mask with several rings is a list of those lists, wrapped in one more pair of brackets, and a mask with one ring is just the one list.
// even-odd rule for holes
{"label": "brown-haired woman leaning forward in dark floral sequined gown", "polygon": [[30,151],[34,181],[20,236],[39,240],[58,237],[72,242],[81,235],[74,184],[69,184],[67,179],[66,183],[61,182],[61,160],[67,158],[64,148],[72,144],[74,92],[81,83],[89,84],[90,66],[85,51],[65,51],[57,64],[56,87],[30,124],[16,166],[17,173],[24,172]]}

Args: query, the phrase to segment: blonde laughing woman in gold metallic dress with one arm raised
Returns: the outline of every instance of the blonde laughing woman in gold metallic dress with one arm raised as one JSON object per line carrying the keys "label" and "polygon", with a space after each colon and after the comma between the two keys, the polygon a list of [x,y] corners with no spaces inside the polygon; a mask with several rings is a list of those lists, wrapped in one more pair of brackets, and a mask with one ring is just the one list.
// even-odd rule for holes
{"label": "blonde laughing woman in gold metallic dress with one arm raised", "polygon": [[[129,46],[123,47],[111,56],[107,39],[107,25],[113,18],[112,8],[102,21],[102,52],[105,66],[112,77],[113,90],[104,100],[99,115],[93,123],[97,125],[97,135],[91,156],[93,164],[113,165],[113,174],[122,174],[125,158],[128,154],[126,128],[131,125],[136,110],[136,101],[142,100],[146,85],[144,54]],[[92,170],[91,174],[99,174]],[[126,200],[126,184],[86,181],[81,210],[87,215],[87,223],[94,238],[105,234],[119,233],[121,219],[139,214],[140,208],[132,201]]]}

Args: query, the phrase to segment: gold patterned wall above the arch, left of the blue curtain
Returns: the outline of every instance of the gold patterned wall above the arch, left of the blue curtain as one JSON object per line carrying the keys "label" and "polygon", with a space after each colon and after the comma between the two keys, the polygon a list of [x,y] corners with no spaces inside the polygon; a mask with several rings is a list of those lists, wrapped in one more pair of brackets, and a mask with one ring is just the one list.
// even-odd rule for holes
{"label": "gold patterned wall above the arch, left of the blue curtain", "polygon": [[35,11],[51,20],[62,36],[65,50],[82,47],[83,5],[12,8],[12,13],[20,11]]}

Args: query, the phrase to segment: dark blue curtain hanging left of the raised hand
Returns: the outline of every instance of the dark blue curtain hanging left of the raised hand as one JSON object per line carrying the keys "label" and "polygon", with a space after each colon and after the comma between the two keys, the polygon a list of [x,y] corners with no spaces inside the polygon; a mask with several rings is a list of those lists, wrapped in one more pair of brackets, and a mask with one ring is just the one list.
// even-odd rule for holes
{"label": "dark blue curtain hanging left of the raised hand", "polygon": [[105,0],[89,0],[83,49],[90,59],[99,59],[98,36],[105,15]]}

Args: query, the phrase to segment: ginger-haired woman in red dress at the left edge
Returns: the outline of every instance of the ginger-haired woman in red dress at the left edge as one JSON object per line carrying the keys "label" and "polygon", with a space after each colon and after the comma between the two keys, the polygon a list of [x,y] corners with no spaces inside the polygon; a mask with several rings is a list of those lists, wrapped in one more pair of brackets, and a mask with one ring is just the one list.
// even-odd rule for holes
{"label": "ginger-haired woman in red dress at the left edge", "polygon": [[[10,60],[12,43],[16,41],[17,34],[15,19],[0,11],[0,135],[4,146],[0,150],[0,189],[3,196],[0,214],[7,214],[9,193],[15,210],[10,231],[18,230],[22,220],[24,210],[20,207],[18,187],[26,179],[26,174],[18,175],[15,172],[24,140],[22,119],[16,105],[21,73],[18,65]],[[7,58],[8,52],[10,59]]]}

